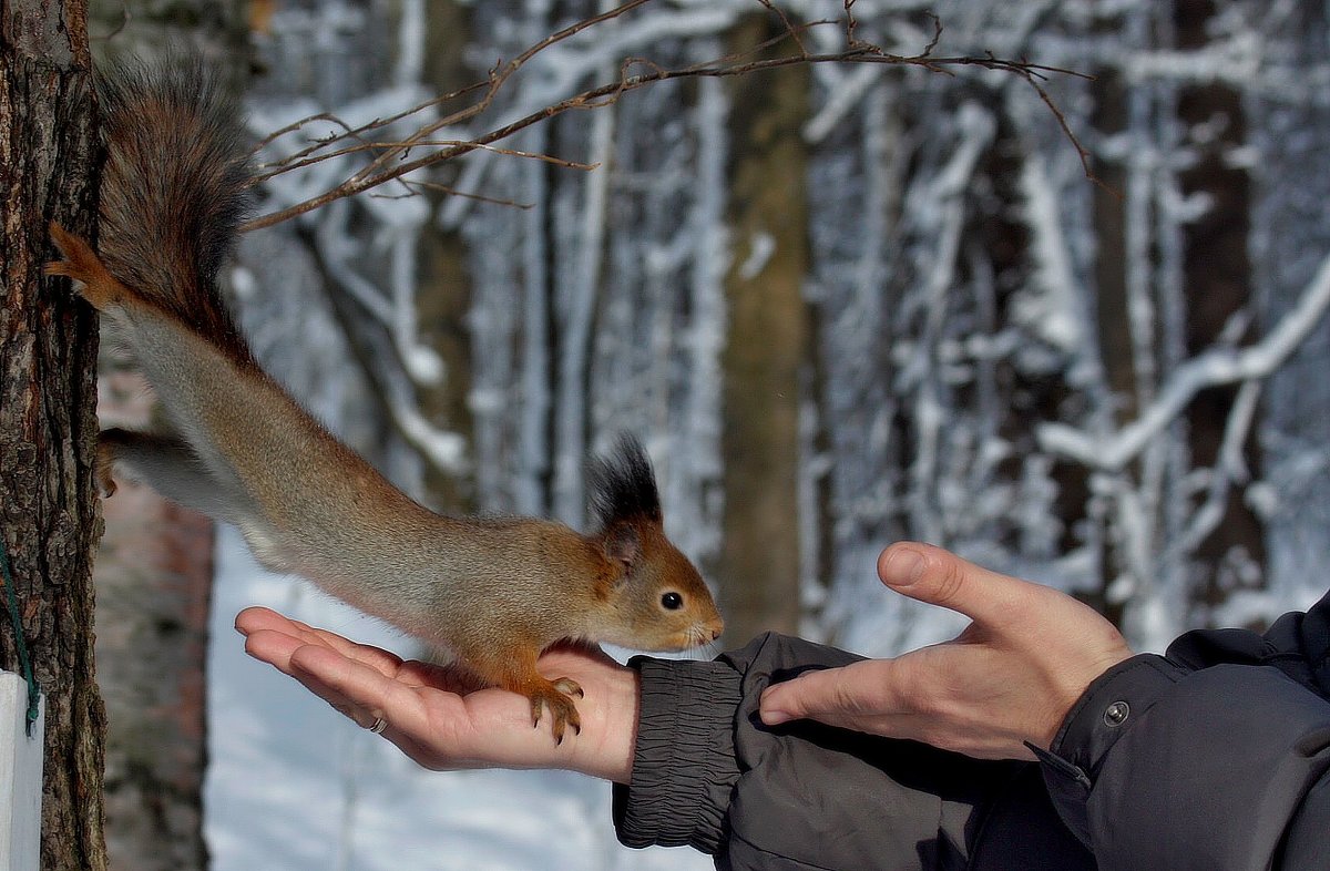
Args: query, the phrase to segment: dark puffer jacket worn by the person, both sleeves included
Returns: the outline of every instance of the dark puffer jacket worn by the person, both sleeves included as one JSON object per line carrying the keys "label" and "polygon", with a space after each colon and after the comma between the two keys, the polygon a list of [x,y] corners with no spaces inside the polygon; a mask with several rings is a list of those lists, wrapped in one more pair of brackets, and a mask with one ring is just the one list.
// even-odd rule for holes
{"label": "dark puffer jacket worn by the person, both sleeves included", "polygon": [[1330,868],[1330,596],[1265,636],[1193,632],[1111,669],[1040,763],[758,721],[769,684],[855,658],[767,634],[636,660],[620,840],[763,871]]}

